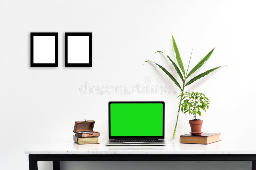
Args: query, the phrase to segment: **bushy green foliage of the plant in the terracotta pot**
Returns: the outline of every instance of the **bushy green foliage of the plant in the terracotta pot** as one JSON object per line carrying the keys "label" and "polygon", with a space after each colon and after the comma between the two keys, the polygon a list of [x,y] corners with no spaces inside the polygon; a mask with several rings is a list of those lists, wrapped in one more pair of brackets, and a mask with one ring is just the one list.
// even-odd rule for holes
{"label": "bushy green foliage of the plant in the terracotta pot", "polygon": [[183,92],[182,96],[182,103],[180,104],[181,111],[184,114],[192,114],[195,119],[196,115],[202,116],[201,110],[204,110],[204,112],[206,113],[206,109],[210,107],[211,101],[203,93]]}

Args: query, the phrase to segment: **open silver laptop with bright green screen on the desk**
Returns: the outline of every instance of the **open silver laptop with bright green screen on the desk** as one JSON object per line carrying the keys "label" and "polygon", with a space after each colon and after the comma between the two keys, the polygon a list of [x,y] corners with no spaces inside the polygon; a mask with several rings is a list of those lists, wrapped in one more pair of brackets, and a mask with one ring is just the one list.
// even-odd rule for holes
{"label": "open silver laptop with bright green screen on the desk", "polygon": [[165,145],[164,102],[109,102],[106,146]]}

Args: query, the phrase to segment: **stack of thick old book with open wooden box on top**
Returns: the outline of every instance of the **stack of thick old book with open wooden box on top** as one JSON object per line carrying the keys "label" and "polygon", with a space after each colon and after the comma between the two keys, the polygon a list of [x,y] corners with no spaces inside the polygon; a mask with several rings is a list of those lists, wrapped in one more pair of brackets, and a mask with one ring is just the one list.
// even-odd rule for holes
{"label": "stack of thick old book with open wooden box on top", "polygon": [[94,120],[76,121],[74,126],[73,140],[77,144],[99,144],[99,131],[94,131]]}

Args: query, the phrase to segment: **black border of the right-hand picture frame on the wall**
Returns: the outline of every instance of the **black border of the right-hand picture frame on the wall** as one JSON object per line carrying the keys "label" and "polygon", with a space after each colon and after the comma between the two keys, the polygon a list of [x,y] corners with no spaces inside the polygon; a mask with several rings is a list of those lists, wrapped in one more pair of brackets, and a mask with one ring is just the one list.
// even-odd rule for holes
{"label": "black border of the right-hand picture frame on the wall", "polygon": [[[89,37],[89,63],[68,63],[68,37]],[[92,32],[65,32],[65,67],[92,67]]]}

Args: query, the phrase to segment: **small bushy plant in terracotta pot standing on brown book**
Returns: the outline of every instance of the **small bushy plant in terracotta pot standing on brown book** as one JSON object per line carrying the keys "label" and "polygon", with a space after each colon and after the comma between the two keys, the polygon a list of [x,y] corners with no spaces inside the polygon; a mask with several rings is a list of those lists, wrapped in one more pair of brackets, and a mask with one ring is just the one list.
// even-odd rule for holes
{"label": "small bushy plant in terracotta pot standing on brown book", "polygon": [[[201,111],[206,113],[206,109],[210,106],[210,100],[203,94],[199,92],[183,92],[182,102],[180,103],[181,111],[186,114],[192,114],[195,119],[189,120],[191,134],[201,135],[201,129],[203,120],[196,119],[196,115],[202,116]],[[180,96],[181,96],[180,95]]]}

